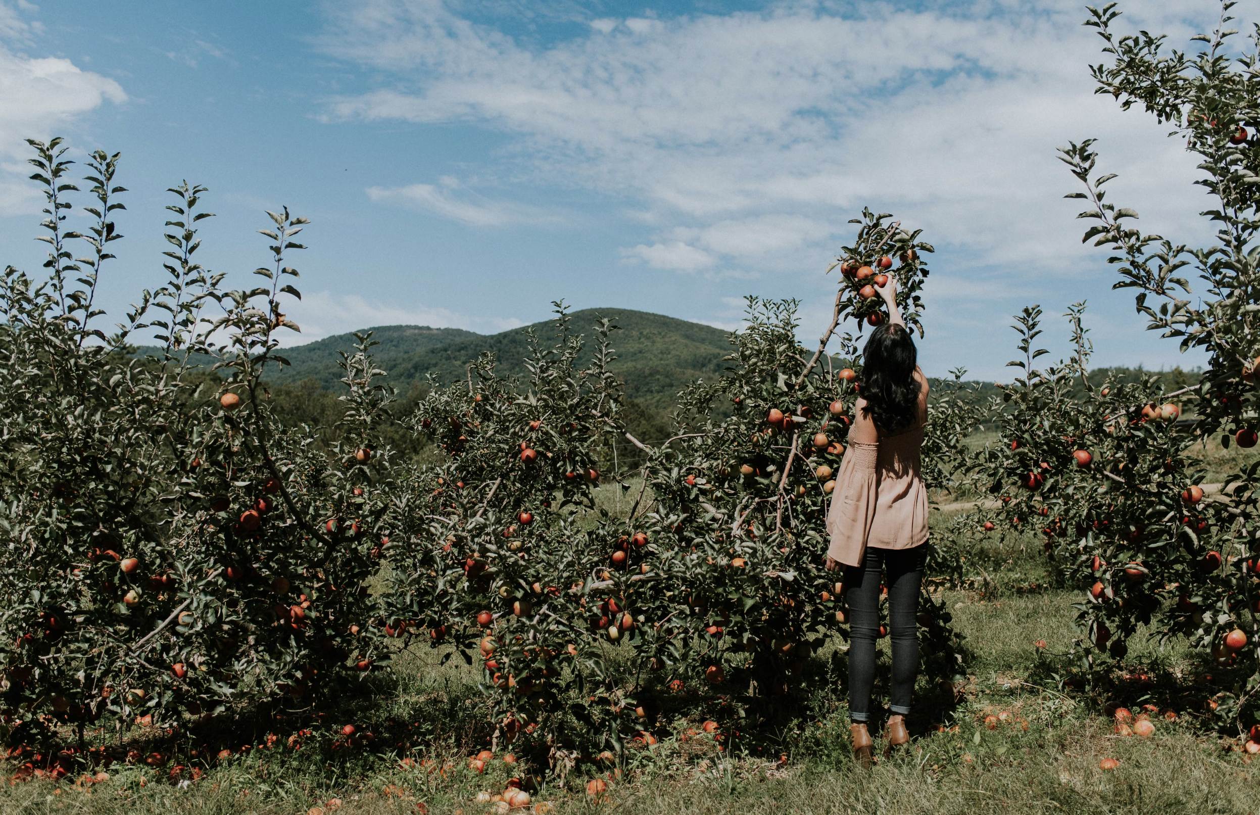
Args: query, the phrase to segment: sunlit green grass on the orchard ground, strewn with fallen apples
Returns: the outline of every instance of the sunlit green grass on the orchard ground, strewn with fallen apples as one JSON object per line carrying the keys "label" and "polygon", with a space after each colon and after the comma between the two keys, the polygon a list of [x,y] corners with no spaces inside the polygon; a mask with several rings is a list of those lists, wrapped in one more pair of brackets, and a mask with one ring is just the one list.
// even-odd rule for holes
{"label": "sunlit green grass on the orchard ground, strewn with fallen apples", "polygon": [[[638,486],[638,485],[636,485]],[[598,501],[626,511],[636,490],[620,498],[604,486]],[[1257,812],[1260,760],[1247,762],[1236,738],[1208,718],[1208,698],[1234,680],[1205,680],[1203,655],[1173,644],[1160,650],[1150,640],[1130,642],[1129,664],[1076,688],[1079,664],[1066,656],[1074,637],[1075,593],[1050,584],[1040,545],[985,543],[976,556],[989,576],[984,592],[945,591],[956,629],[965,635],[968,681],[961,698],[949,698],[922,683],[919,715],[912,721],[912,749],[862,771],[850,757],[843,694],[843,642],[833,641],[811,660],[811,692],[798,715],[774,731],[740,733],[719,743],[699,719],[721,719],[722,705],[709,699],[703,714],[678,715],[669,708],[654,728],[659,743],[631,744],[621,777],[609,784],[607,800],[583,794],[587,777],[607,777],[609,766],[578,763],[567,776],[549,773],[543,752],[534,763],[509,767],[490,762],[485,775],[466,770],[467,756],[486,747],[488,733],[475,710],[475,675],[461,660],[438,664],[441,650],[416,647],[401,654],[392,675],[377,676],[362,695],[340,700],[314,722],[242,721],[224,743],[272,748],[236,752],[207,761],[219,744],[183,742],[178,761],[204,775],[188,789],[169,780],[171,765],[154,770],[142,761],[117,762],[110,778],[79,789],[63,781],[26,781],[0,787],[0,811],[100,812],[102,815],[181,815],[260,812],[297,815],[339,799],[339,812],[428,812],[483,815],[479,792],[500,792],[510,775],[537,773],[546,785],[534,801],[557,812]],[[1045,640],[1046,649],[1036,647]],[[611,647],[611,646],[610,646]],[[612,654],[610,654],[612,655]],[[614,655],[615,656],[615,655]],[[1153,704],[1155,734],[1121,737],[1113,732],[1105,708]],[[1176,721],[1164,718],[1172,710]],[[994,728],[987,715],[1000,715]],[[370,747],[331,749],[334,731],[345,722],[375,733]],[[738,732],[733,724],[726,729]],[[285,747],[296,727],[309,727],[300,748]],[[163,734],[134,733],[132,746],[161,743]],[[175,737],[175,743],[179,742]],[[519,744],[518,744],[519,747]],[[404,768],[399,757],[427,758],[432,767]],[[499,756],[504,755],[500,748]],[[527,755],[527,751],[522,751]],[[785,761],[780,761],[785,756]],[[1104,757],[1120,761],[1101,770]],[[5,767],[11,775],[15,765]],[[186,772],[186,771],[185,771]],[[391,792],[387,787],[392,785]],[[397,794],[401,794],[399,797]]]}

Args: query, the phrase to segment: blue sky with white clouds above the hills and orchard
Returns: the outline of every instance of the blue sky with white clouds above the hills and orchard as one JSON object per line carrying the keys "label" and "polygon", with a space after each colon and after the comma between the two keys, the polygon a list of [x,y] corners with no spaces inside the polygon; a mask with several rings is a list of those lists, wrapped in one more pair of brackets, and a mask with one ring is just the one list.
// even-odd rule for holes
{"label": "blue sky with white clouds above the hills and orchard", "polygon": [[[1126,30],[1178,45],[1218,13],[1126,5]],[[1092,94],[1084,16],[1057,0],[0,0],[0,252],[38,270],[21,139],[60,134],[78,157],[123,154],[113,314],[160,285],[164,190],[188,179],[219,215],[204,262],[239,286],[265,259],[265,209],[312,220],[294,341],[494,333],[558,299],[736,328],[746,294],[803,300],[809,340],[834,296],[823,270],[869,205],[937,248],[929,373],[1009,379],[1009,315],[1032,302],[1066,353],[1057,315],[1079,300],[1096,364],[1193,365],[1110,291],[1062,199],[1055,147],[1096,136],[1144,228],[1207,237],[1192,159]]]}

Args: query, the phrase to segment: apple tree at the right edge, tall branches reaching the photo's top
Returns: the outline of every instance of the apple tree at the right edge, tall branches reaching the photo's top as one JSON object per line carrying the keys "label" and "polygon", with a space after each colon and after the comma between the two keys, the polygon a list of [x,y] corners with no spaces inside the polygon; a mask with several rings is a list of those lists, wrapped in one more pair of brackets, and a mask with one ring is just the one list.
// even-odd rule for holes
{"label": "apple tree at the right edge, tall branches reaching the photo's top", "polygon": [[[1244,466],[1217,495],[1205,498],[1202,470],[1186,453],[1217,433],[1225,447],[1256,443],[1256,40],[1232,49],[1234,3],[1222,3],[1215,31],[1192,38],[1203,43],[1193,53],[1169,49],[1164,37],[1147,31],[1118,34],[1115,5],[1090,9],[1086,20],[1105,43],[1108,62],[1091,67],[1097,93],[1124,110],[1140,106],[1183,140],[1202,171],[1196,185],[1213,202],[1203,217],[1215,224],[1215,239],[1192,248],[1137,228],[1135,210],[1108,200],[1106,184],[1115,176],[1097,174],[1094,140],[1061,151],[1085,188],[1068,198],[1086,202],[1079,217],[1094,223],[1084,239],[1111,252],[1115,287],[1137,290],[1135,306],[1148,328],[1177,340],[1183,351],[1201,353],[1206,367],[1200,384],[1179,393],[1160,393],[1147,380],[1082,383],[1070,394],[1066,385],[1082,373],[1084,359],[1037,372],[1026,354],[1024,378],[1005,394],[1016,409],[1004,433],[1004,442],[1026,452],[1009,451],[1002,464],[1007,479],[995,486],[1004,491],[1016,482],[1023,490],[1022,499],[1018,491],[1004,496],[1012,499],[1012,520],[1033,523],[1031,511],[1043,509],[1041,518],[1062,519],[1061,528],[1053,520],[1047,525],[1068,579],[1086,592],[1082,647],[1096,654],[1105,646],[1123,656],[1123,640],[1135,624],[1154,618],[1166,635],[1184,635],[1247,676],[1241,693],[1223,694],[1216,708],[1232,718],[1260,688],[1251,520],[1260,472],[1257,465]],[[1034,316],[1021,319],[1026,351]],[[1193,413],[1188,428],[1176,425],[1182,411]],[[1072,448],[1087,451],[1092,461],[1074,466]]]}

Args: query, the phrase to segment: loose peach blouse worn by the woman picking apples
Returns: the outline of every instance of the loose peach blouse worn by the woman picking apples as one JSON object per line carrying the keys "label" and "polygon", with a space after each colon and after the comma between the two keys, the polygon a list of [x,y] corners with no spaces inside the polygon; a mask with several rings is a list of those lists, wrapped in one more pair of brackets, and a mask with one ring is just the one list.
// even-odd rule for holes
{"label": "loose peach blouse worn by the woman picking apples", "polygon": [[827,557],[861,566],[867,547],[910,549],[927,540],[927,489],[920,470],[920,425],[844,452],[827,513]]}

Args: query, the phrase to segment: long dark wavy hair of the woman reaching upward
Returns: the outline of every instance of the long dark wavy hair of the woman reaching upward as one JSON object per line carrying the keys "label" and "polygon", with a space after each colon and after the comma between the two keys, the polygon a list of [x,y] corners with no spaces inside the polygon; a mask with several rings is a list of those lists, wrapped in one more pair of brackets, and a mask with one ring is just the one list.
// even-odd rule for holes
{"label": "long dark wavy hair of the woman reaching upward", "polygon": [[922,385],[915,380],[919,349],[906,326],[886,322],[862,350],[862,397],[874,426],[885,432],[901,430],[919,418]]}

